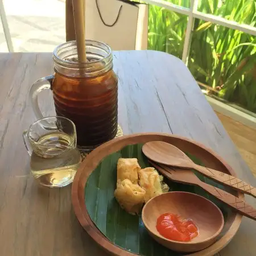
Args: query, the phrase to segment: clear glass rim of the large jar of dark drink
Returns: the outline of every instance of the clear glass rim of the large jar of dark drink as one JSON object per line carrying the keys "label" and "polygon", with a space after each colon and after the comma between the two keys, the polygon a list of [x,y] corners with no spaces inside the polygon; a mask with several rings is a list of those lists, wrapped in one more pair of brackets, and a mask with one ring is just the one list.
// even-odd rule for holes
{"label": "clear glass rim of the large jar of dark drink", "polygon": [[[108,63],[109,59],[112,59],[112,49],[110,48],[110,46],[108,46],[108,44],[106,43],[103,43],[97,40],[85,39],[85,46],[95,47],[95,45],[93,44],[99,44],[99,46],[101,45],[102,47],[104,47],[106,49],[107,55],[102,56],[102,59],[100,60],[93,60],[93,61],[86,61],[86,62],[69,61],[69,60],[61,59],[61,57],[59,57],[59,54],[58,54],[59,51],[64,50],[68,47],[77,46],[76,40],[72,40],[55,47],[55,49],[53,50],[53,60],[56,61],[57,64],[63,65],[64,67],[74,67],[74,65],[76,65],[79,68],[84,68],[88,65],[95,64],[101,61],[106,61]],[[96,46],[96,47],[99,47],[99,46]]]}

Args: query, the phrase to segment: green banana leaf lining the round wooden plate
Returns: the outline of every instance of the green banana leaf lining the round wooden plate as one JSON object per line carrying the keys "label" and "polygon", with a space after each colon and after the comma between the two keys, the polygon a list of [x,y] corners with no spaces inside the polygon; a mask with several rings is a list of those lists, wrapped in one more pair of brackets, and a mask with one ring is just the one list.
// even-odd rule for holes
{"label": "green banana leaf lining the round wooden plate", "polygon": [[[97,228],[115,245],[135,254],[143,256],[181,256],[183,253],[171,251],[155,242],[144,228],[141,216],[131,216],[119,207],[114,198],[114,190],[117,183],[117,161],[118,158],[138,158],[142,168],[150,166],[142,153],[142,144],[129,145],[121,151],[106,156],[98,167],[89,176],[85,185],[85,204],[89,216]],[[188,154],[195,163],[201,164],[200,159]],[[196,174],[199,179],[224,189],[222,185],[215,183],[203,175]],[[170,186],[170,191],[187,191],[207,197],[218,205],[224,213],[224,218],[230,210],[223,203],[208,195],[203,189],[174,183],[164,179]]]}

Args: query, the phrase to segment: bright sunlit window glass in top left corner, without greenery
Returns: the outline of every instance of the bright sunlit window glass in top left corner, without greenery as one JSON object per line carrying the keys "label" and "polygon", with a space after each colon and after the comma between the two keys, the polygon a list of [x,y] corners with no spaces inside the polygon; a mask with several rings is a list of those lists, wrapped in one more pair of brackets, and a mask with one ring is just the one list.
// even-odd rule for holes
{"label": "bright sunlit window glass in top left corner, without greenery", "polygon": [[[52,52],[65,42],[65,1],[3,1],[15,52]],[[0,19],[0,51],[7,52]]]}

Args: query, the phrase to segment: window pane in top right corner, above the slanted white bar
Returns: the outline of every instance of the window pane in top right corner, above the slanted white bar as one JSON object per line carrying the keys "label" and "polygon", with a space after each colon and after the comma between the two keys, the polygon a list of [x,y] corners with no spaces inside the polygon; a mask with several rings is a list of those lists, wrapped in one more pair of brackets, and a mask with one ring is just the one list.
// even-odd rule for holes
{"label": "window pane in top right corner, above the slanted white bar", "polygon": [[197,10],[241,24],[256,24],[255,0],[199,0]]}

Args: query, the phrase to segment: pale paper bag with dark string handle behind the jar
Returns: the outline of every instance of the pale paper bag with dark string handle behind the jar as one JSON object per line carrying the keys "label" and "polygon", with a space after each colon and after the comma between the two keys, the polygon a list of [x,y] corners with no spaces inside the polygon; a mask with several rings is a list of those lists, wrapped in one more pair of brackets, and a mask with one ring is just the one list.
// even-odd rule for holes
{"label": "pale paper bag with dark string handle behind the jar", "polygon": [[147,49],[148,5],[129,0],[86,0],[85,36],[113,50]]}

